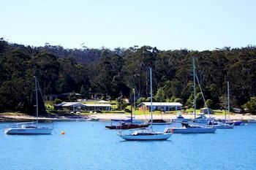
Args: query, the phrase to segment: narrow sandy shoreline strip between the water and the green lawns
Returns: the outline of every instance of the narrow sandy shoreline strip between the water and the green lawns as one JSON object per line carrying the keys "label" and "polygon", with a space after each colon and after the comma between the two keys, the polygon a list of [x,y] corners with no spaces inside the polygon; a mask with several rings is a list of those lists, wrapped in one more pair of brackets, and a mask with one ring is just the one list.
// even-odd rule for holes
{"label": "narrow sandy shoreline strip between the water and the green lawns", "polygon": [[[128,114],[118,114],[118,113],[98,113],[94,115],[70,115],[70,116],[53,116],[53,117],[38,117],[39,121],[86,121],[87,117],[93,116],[94,118],[98,118],[99,121],[110,121],[111,119],[127,119],[129,117]],[[176,114],[166,114],[166,115],[157,115],[154,114],[154,119],[164,119],[170,120],[176,118]],[[184,118],[193,119],[194,115],[191,114],[183,114]],[[208,115],[206,115],[208,117]],[[135,118],[138,120],[149,120],[150,115],[135,115]],[[225,115],[212,115],[217,119],[224,119]],[[228,116],[227,116],[228,117]],[[234,114],[230,115],[230,120],[255,120],[256,115],[241,115]],[[0,115],[0,122],[26,122],[31,120],[37,120],[37,117],[29,116],[29,115]]]}

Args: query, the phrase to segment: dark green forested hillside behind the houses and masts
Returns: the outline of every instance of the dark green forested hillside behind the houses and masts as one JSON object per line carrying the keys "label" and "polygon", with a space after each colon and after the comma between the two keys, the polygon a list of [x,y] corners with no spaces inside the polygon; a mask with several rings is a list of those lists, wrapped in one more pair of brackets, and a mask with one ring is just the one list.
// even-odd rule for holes
{"label": "dark green forested hillside behind the houses and masts", "polygon": [[[182,101],[192,106],[192,55],[203,93],[211,107],[223,107],[226,82],[232,104],[241,107],[256,96],[256,47],[212,51],[129,49],[64,49],[61,46],[26,47],[0,41],[0,109],[33,112],[34,75],[45,95],[75,91],[108,93],[111,98],[148,97],[148,67],[153,68],[155,100]],[[197,87],[197,92],[200,92]],[[161,95],[161,98],[159,98]],[[203,106],[197,93],[198,107]]]}

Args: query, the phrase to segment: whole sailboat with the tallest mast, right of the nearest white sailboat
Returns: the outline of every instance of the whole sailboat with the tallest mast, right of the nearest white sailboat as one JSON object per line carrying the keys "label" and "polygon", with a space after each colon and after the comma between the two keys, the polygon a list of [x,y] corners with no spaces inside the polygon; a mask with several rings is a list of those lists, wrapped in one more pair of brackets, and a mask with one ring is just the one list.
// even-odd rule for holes
{"label": "whole sailboat with the tallest mast, right of the nearest white sailboat", "polygon": [[[194,82],[194,117],[195,122],[197,122],[196,118],[196,89],[195,89],[195,58],[193,57],[193,82]],[[197,80],[198,81],[198,80]],[[198,82],[199,88],[202,91],[200,84]],[[203,99],[205,101],[205,98],[203,96]],[[206,103],[206,102],[205,102]],[[207,107],[207,106],[206,106]],[[207,118],[207,117],[202,117]],[[211,119],[210,119],[211,120]],[[166,128],[166,132],[173,132],[173,134],[202,134],[202,133],[214,133],[216,131],[216,128],[213,125],[189,125],[189,123],[181,123],[181,128]]]}

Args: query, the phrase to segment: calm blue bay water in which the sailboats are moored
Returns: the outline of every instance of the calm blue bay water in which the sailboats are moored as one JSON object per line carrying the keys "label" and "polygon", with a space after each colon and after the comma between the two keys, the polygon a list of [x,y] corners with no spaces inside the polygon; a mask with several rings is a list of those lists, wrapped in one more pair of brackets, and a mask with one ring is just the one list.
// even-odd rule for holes
{"label": "calm blue bay water in which the sailboats are moored", "polygon": [[0,169],[256,169],[256,123],[155,142],[125,142],[107,124],[56,122],[52,135],[11,136],[0,123]]}

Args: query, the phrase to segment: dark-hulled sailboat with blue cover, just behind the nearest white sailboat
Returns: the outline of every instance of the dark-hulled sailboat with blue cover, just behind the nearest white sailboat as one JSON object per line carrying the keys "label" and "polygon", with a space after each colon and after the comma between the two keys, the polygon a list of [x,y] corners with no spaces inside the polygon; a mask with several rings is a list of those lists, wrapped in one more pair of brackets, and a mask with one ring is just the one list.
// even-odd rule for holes
{"label": "dark-hulled sailboat with blue cover, just behind the nearest white sailboat", "polygon": [[[135,108],[135,89],[133,89],[133,104]],[[132,108],[132,107],[131,107]],[[134,115],[135,115],[135,109],[134,109]],[[106,125],[105,128],[109,129],[132,129],[132,128],[147,128],[148,123],[143,123],[141,120],[135,120],[133,119],[135,117],[132,116],[132,109],[131,109],[131,116],[128,120],[111,120],[110,125]],[[117,125],[112,125],[113,121],[118,121]]]}

